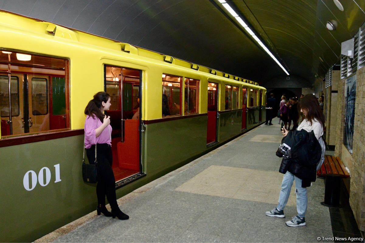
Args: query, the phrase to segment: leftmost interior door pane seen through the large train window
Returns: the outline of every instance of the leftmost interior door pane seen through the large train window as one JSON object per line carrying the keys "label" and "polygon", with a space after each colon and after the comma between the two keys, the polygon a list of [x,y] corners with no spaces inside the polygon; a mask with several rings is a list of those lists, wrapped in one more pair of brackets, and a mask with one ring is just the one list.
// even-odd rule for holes
{"label": "leftmost interior door pane seen through the large train window", "polygon": [[[11,76],[11,116],[19,116],[19,79]],[[1,117],[9,116],[9,83],[8,76],[0,76],[0,114]]]}

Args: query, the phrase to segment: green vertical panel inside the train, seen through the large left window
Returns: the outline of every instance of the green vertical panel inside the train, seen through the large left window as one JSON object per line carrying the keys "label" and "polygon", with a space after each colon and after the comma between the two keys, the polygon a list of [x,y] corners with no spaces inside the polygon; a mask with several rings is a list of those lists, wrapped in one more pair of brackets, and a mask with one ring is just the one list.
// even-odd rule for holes
{"label": "green vertical panel inside the train, seen through the large left window", "polygon": [[52,115],[66,113],[65,78],[52,77]]}

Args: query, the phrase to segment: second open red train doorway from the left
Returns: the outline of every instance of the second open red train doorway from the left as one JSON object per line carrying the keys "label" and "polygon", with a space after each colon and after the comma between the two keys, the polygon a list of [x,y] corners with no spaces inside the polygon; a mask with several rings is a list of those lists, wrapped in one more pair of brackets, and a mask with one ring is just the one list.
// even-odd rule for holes
{"label": "second open red train doorway from the left", "polygon": [[217,141],[218,84],[208,82],[207,144]]}

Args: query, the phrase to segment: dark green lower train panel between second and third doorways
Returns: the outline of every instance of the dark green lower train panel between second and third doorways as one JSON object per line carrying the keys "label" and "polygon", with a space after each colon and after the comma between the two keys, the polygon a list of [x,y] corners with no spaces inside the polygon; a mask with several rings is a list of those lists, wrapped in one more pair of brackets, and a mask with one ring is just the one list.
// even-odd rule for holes
{"label": "dark green lower train panel between second and third doorways", "polygon": [[241,133],[242,109],[219,114],[219,142],[224,142]]}

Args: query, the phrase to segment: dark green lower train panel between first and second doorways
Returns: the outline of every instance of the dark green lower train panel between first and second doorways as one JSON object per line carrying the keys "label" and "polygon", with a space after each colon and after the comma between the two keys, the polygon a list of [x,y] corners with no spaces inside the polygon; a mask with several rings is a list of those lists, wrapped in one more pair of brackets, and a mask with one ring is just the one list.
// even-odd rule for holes
{"label": "dark green lower train panel between first and second doorways", "polygon": [[187,161],[204,152],[206,143],[207,116],[148,124],[144,172],[148,176]]}

